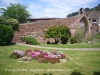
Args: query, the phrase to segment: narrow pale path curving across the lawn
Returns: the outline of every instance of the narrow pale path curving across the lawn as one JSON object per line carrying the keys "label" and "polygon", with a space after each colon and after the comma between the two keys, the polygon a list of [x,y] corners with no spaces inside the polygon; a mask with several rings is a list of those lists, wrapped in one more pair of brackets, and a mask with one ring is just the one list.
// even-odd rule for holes
{"label": "narrow pale path curving across the lawn", "polygon": [[28,45],[23,43],[16,43],[16,44],[21,46],[43,48],[43,49],[55,49],[55,50],[100,50],[100,48],[57,48],[57,47],[45,47],[45,46],[38,46],[38,45]]}

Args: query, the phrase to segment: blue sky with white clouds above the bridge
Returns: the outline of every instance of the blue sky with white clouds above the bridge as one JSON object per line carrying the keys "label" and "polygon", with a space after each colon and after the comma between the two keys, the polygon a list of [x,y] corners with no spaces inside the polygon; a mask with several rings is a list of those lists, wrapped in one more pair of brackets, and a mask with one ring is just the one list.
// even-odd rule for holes
{"label": "blue sky with white clouds above the bridge", "polygon": [[0,8],[6,8],[9,3],[26,5],[31,18],[66,18],[80,8],[97,6],[100,0],[0,0]]}

